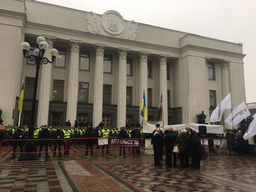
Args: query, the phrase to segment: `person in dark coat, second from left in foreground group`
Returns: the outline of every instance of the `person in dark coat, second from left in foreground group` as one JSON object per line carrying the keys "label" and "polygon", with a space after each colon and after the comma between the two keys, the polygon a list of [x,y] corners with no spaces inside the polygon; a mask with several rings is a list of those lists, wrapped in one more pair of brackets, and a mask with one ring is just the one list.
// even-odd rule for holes
{"label": "person in dark coat, second from left in foreground group", "polygon": [[177,167],[177,153],[173,153],[173,147],[175,146],[177,134],[173,131],[173,128],[168,129],[168,134],[164,136],[165,138],[165,162],[167,165],[172,166],[172,156],[173,156],[173,167]]}

